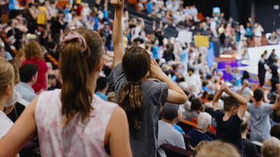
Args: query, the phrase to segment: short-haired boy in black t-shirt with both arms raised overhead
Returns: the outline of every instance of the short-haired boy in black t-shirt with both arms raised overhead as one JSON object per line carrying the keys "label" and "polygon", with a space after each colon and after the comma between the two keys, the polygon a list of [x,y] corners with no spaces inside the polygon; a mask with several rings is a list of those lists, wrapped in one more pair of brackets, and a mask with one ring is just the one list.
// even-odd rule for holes
{"label": "short-haired boy in black t-shirt with both arms raised overhead", "polygon": [[[221,112],[218,107],[218,99],[223,92],[228,96],[224,100],[225,113]],[[231,91],[225,84],[222,84],[213,100],[214,118],[216,119],[217,137],[234,144],[241,154],[243,154],[243,144],[241,139],[240,125],[246,113],[247,101],[245,98]]]}

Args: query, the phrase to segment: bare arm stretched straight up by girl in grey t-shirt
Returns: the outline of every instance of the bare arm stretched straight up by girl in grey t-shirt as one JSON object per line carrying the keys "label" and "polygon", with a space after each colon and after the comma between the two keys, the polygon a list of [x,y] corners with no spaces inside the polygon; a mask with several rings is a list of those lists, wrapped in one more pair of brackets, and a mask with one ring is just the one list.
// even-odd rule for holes
{"label": "bare arm stretched straight up by girl in grey t-shirt", "polygon": [[113,22],[113,51],[114,51],[114,66],[117,66],[123,61],[125,49],[123,47],[123,3],[124,0],[112,0],[111,4],[115,7],[115,18]]}

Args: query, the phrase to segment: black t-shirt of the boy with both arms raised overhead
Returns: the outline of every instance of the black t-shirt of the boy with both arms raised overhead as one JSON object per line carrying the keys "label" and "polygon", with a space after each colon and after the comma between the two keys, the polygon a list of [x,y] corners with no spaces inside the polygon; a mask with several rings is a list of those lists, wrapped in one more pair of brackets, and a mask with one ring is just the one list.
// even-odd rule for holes
{"label": "black t-shirt of the boy with both arms raised overhead", "polygon": [[240,125],[242,120],[238,115],[230,117],[228,121],[223,121],[225,114],[221,110],[214,112],[214,118],[217,121],[217,137],[225,142],[234,144],[241,154],[243,154],[243,143],[241,138]]}

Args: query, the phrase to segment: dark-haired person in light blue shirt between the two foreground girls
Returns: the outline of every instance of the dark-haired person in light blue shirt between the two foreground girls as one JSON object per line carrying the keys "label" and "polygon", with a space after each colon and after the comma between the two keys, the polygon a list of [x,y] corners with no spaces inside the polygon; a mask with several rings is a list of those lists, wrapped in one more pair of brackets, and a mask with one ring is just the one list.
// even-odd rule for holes
{"label": "dark-haired person in light blue shirt between the two foreground girls", "polygon": [[97,79],[97,89],[96,89],[97,91],[95,92],[95,94],[100,98],[102,98],[103,100],[108,100],[106,96],[106,91],[108,90],[108,88],[109,88],[109,84],[106,77],[99,77]]}

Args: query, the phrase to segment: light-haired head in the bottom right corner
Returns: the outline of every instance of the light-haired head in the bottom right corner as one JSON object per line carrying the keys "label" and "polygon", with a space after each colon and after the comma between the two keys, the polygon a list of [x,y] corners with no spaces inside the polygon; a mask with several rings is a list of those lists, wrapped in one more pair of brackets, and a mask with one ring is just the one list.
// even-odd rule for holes
{"label": "light-haired head in the bottom right corner", "polygon": [[276,137],[270,137],[269,139],[265,140],[260,151],[262,152],[263,157],[279,157],[280,140],[278,140]]}

